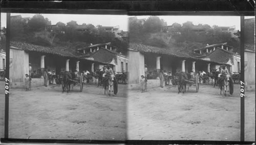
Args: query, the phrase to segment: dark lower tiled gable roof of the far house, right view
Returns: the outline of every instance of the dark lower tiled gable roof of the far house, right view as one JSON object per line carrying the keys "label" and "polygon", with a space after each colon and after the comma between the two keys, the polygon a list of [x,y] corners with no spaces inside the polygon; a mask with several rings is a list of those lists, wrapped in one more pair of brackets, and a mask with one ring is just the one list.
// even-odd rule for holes
{"label": "dark lower tiled gable roof of the far house, right view", "polygon": [[221,48],[217,48],[215,51],[209,53],[206,56],[202,56],[200,57],[201,59],[208,59],[210,61],[214,61],[216,63],[219,64],[225,64],[227,63],[227,61],[229,60],[229,58],[231,59],[232,63],[232,57],[233,57],[234,53],[226,51],[224,49]]}

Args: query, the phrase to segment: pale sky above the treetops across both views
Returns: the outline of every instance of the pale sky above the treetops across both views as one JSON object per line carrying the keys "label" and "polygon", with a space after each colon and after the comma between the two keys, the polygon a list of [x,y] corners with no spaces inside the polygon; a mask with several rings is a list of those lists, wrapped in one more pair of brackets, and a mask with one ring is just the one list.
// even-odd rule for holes
{"label": "pale sky above the treetops across both views", "polygon": [[[12,13],[11,15],[22,15],[22,17],[32,17],[34,14]],[[128,31],[127,15],[86,15],[86,14],[42,14],[51,20],[52,25],[58,22],[67,24],[75,20],[77,24],[93,24],[94,26],[119,26],[119,30]],[[137,18],[148,18],[149,16],[137,16]],[[208,24],[211,27],[217,26],[236,26],[240,30],[240,16],[159,16],[164,19],[167,25],[174,23],[183,24],[187,21],[193,22],[194,25]],[[253,16],[245,16],[251,18]],[[1,27],[6,27],[6,13],[1,13]]]}

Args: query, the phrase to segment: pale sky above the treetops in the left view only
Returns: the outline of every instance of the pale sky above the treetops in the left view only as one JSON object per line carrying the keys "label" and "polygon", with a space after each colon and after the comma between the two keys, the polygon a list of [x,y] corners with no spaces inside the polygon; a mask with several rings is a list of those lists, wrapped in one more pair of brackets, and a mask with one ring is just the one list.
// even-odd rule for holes
{"label": "pale sky above the treetops in the left view only", "polygon": [[[22,15],[22,17],[33,17],[35,14],[11,13],[13,15]],[[42,14],[45,18],[51,20],[51,24],[58,22],[67,24],[75,20],[78,25],[92,24],[95,27],[101,26],[119,26],[119,30],[128,31],[127,15],[86,15],[86,14]],[[1,13],[1,27],[6,27],[6,13]]]}

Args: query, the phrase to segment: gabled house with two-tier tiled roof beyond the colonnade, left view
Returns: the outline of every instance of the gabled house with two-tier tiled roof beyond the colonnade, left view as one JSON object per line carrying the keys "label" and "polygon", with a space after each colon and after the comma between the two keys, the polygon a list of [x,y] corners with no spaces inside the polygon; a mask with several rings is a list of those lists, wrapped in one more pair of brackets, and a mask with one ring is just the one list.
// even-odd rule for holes
{"label": "gabled house with two-tier tiled roof beyond the colonnade, left view", "polygon": [[[91,45],[86,48],[77,49],[81,54],[79,58],[87,58],[90,60],[96,60],[102,63],[109,63],[113,65],[113,71],[123,72],[128,70],[128,58],[127,56],[117,53],[116,47],[111,43]],[[103,65],[94,67],[95,71],[101,69]]]}

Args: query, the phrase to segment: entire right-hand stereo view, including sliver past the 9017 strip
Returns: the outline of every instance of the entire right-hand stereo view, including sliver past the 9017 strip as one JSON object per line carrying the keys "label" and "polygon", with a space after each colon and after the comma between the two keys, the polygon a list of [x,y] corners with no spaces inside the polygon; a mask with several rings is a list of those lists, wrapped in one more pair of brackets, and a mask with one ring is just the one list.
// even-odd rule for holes
{"label": "entire right-hand stereo view, including sliver past the 9017 strip", "polygon": [[[245,140],[253,141],[255,18],[247,21]],[[130,16],[127,139],[240,141],[240,32],[240,16]]]}

